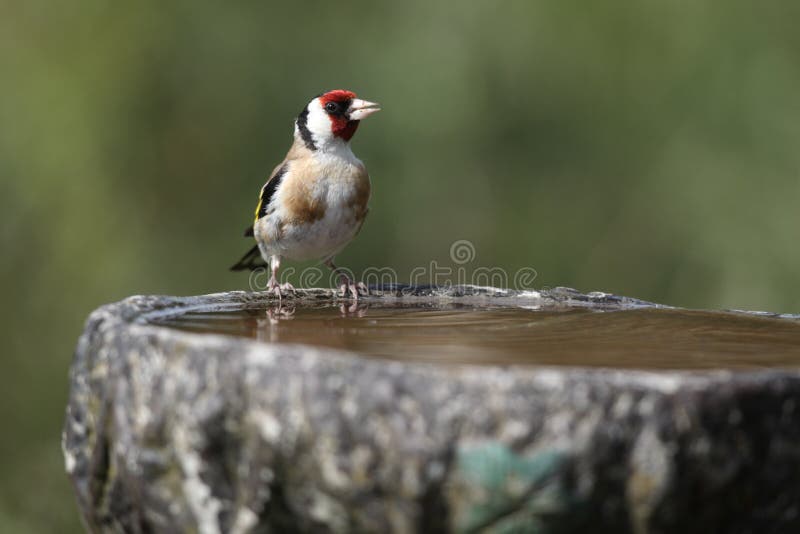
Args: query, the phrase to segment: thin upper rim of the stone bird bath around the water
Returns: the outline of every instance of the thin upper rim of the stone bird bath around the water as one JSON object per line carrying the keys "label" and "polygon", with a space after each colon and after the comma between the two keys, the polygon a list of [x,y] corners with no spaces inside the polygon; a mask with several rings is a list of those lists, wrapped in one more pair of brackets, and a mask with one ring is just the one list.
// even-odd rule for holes
{"label": "thin upper rim of the stone bird bath around the water", "polygon": [[[656,304],[640,299],[623,297],[605,292],[580,293],[571,288],[556,287],[552,289],[534,290],[511,290],[495,287],[482,286],[394,286],[386,289],[370,288],[370,295],[359,299],[359,303],[366,303],[370,307],[418,307],[429,305],[432,309],[449,308],[475,308],[475,309],[536,309],[536,310],[579,310],[589,309],[594,311],[628,311],[628,310],[672,310],[672,311],[706,311],[680,308],[664,304]],[[159,335],[184,337],[193,343],[210,340],[212,337],[219,338],[218,343],[236,342],[242,343],[242,350],[280,350],[282,347],[297,347],[306,351],[324,353],[339,358],[359,358],[380,364],[392,364],[400,366],[424,366],[426,368],[437,367],[447,370],[453,368],[479,368],[486,370],[494,368],[498,370],[514,370],[514,372],[543,372],[552,371],[555,373],[586,373],[587,375],[608,375],[614,376],[620,373],[628,376],[639,375],[640,377],[657,376],[659,379],[666,379],[670,376],[685,382],[687,378],[715,378],[730,379],[731,377],[744,375],[774,375],[792,374],[794,367],[776,368],[752,368],[752,369],[663,369],[663,368],[644,368],[631,369],[619,368],[614,365],[593,366],[593,365],[551,365],[551,364],[487,364],[469,362],[428,362],[428,361],[402,361],[402,360],[376,360],[358,351],[340,348],[324,347],[311,343],[286,343],[274,342],[264,343],[263,341],[241,338],[222,333],[196,333],[185,330],[177,330],[161,323],[165,319],[181,316],[187,313],[216,313],[233,312],[239,310],[263,309],[267,306],[278,304],[278,298],[269,292],[249,292],[249,291],[229,291],[220,293],[210,293],[199,296],[176,297],[163,295],[136,295],[131,296],[117,303],[108,304],[101,307],[101,310],[110,311],[104,314],[106,319],[115,317],[118,326],[129,325],[133,327],[143,327],[139,333],[155,333]],[[294,296],[284,297],[282,304],[285,306],[318,306],[325,304],[352,305],[353,301],[349,298],[342,298],[335,289],[309,288],[298,289]],[[762,311],[745,310],[708,310],[712,313],[731,314],[734,316],[757,317],[775,319],[782,321],[800,321],[800,314],[780,314]],[[97,313],[95,312],[95,313]],[[110,326],[110,325],[107,325]],[[800,371],[800,366],[796,368]],[[649,380],[647,380],[649,382]]]}

